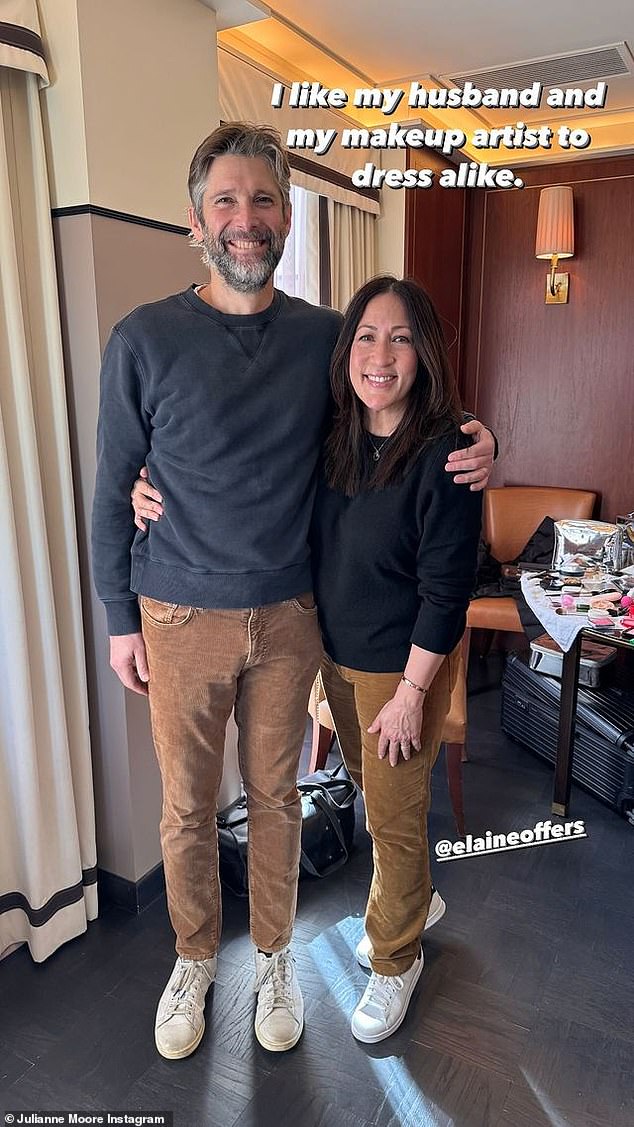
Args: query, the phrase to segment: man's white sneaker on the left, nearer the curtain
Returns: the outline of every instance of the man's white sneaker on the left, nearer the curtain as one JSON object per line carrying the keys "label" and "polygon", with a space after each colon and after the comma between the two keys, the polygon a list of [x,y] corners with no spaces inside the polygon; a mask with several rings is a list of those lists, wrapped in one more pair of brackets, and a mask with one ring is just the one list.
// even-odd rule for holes
{"label": "man's white sneaker on the left, nearer the curtain", "polygon": [[205,995],[216,976],[216,957],[184,959],[179,955],[157,1009],[154,1040],[161,1056],[189,1056],[205,1032]]}

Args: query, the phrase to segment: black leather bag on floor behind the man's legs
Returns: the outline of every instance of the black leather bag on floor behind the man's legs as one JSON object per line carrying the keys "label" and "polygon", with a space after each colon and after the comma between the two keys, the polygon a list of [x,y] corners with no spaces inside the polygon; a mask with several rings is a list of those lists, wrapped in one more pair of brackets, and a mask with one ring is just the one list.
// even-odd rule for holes
{"label": "black leather bag on floor behind the man's legs", "polygon": [[[327,877],[348,860],[355,834],[357,788],[341,763],[297,780],[302,798],[300,875]],[[216,817],[220,879],[235,896],[249,893],[247,798],[242,795]]]}

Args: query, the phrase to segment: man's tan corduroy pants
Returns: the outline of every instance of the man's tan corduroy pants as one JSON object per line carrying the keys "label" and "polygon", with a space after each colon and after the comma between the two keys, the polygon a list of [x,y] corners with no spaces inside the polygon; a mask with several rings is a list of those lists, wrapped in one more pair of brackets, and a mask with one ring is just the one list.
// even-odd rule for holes
{"label": "man's tan corduroy pants", "polygon": [[206,959],[218,947],[215,816],[234,708],[248,798],[251,937],[262,951],[280,950],[295,917],[302,829],[295,783],[321,657],[312,595],[236,611],[143,596],[141,610],[176,949]]}

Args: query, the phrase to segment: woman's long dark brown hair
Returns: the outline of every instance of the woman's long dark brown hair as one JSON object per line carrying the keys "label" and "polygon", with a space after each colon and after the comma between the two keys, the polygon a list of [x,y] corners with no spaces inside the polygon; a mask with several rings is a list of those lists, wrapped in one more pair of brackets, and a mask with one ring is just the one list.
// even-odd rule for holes
{"label": "woman's long dark brown hair", "polygon": [[[403,418],[368,479],[364,405],[350,382],[349,362],[365,308],[383,293],[395,294],[405,307],[418,355],[418,372]],[[354,497],[361,485],[382,489],[402,480],[426,443],[462,423],[461,402],[438,313],[425,290],[408,278],[399,281],[382,274],[366,282],[354,295],[332,353],[330,385],[334,412],[325,441],[325,478],[331,489],[347,497]]]}

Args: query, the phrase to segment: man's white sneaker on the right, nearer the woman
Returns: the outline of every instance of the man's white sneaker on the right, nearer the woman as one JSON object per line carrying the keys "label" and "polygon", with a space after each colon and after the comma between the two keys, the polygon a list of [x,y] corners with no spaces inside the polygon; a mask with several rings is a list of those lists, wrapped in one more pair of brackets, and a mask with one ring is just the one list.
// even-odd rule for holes
{"label": "man's white sneaker on the right, nearer the woman", "polygon": [[304,1028],[304,1001],[291,948],[275,955],[256,951],[258,995],[256,1037],[265,1049],[284,1053],[297,1044]]}

